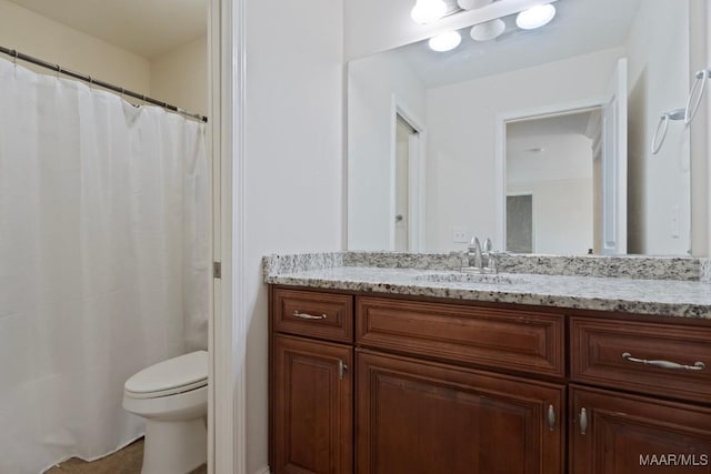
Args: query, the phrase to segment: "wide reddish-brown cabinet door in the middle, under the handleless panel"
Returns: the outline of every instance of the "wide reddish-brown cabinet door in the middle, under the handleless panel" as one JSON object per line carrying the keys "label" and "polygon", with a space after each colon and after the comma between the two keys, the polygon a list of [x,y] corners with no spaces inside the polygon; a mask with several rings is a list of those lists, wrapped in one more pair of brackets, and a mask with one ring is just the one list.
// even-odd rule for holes
{"label": "wide reddish-brown cabinet door in the middle, under the handleless panel", "polygon": [[562,472],[562,385],[368,351],[357,365],[358,473]]}

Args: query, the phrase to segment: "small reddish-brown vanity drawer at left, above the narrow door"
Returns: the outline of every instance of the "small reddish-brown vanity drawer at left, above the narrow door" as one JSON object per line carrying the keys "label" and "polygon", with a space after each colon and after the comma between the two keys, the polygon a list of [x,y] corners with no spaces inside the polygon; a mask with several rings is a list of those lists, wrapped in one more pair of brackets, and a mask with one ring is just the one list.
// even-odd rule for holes
{"label": "small reddish-brown vanity drawer at left, above the narrow door", "polygon": [[274,289],[274,331],[337,342],[353,342],[353,296]]}

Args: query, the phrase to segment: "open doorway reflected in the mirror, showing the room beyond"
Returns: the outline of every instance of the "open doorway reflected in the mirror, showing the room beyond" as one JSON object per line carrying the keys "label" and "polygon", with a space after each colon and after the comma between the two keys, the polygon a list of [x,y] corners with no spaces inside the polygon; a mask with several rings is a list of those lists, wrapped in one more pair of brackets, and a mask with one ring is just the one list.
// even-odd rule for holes
{"label": "open doorway reflected in the mirror, showing the room beyond", "polygon": [[507,251],[585,254],[595,246],[600,119],[597,107],[507,123]]}

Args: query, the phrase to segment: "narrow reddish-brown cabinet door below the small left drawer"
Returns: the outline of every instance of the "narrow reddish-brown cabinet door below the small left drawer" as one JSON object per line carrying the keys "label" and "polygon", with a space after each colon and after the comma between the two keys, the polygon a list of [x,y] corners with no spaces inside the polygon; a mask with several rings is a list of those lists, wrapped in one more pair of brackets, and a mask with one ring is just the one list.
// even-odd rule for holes
{"label": "narrow reddish-brown cabinet door below the small left drawer", "polygon": [[352,349],[276,335],[276,474],[353,468]]}

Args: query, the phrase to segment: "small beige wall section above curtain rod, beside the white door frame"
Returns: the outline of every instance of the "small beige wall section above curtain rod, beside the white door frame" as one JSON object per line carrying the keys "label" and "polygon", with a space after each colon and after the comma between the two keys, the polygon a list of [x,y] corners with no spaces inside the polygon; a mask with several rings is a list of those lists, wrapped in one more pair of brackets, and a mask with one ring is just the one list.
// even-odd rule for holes
{"label": "small beige wall section above curtain rod, beside the white door frame", "polygon": [[201,37],[150,62],[151,97],[208,114],[208,39]]}

